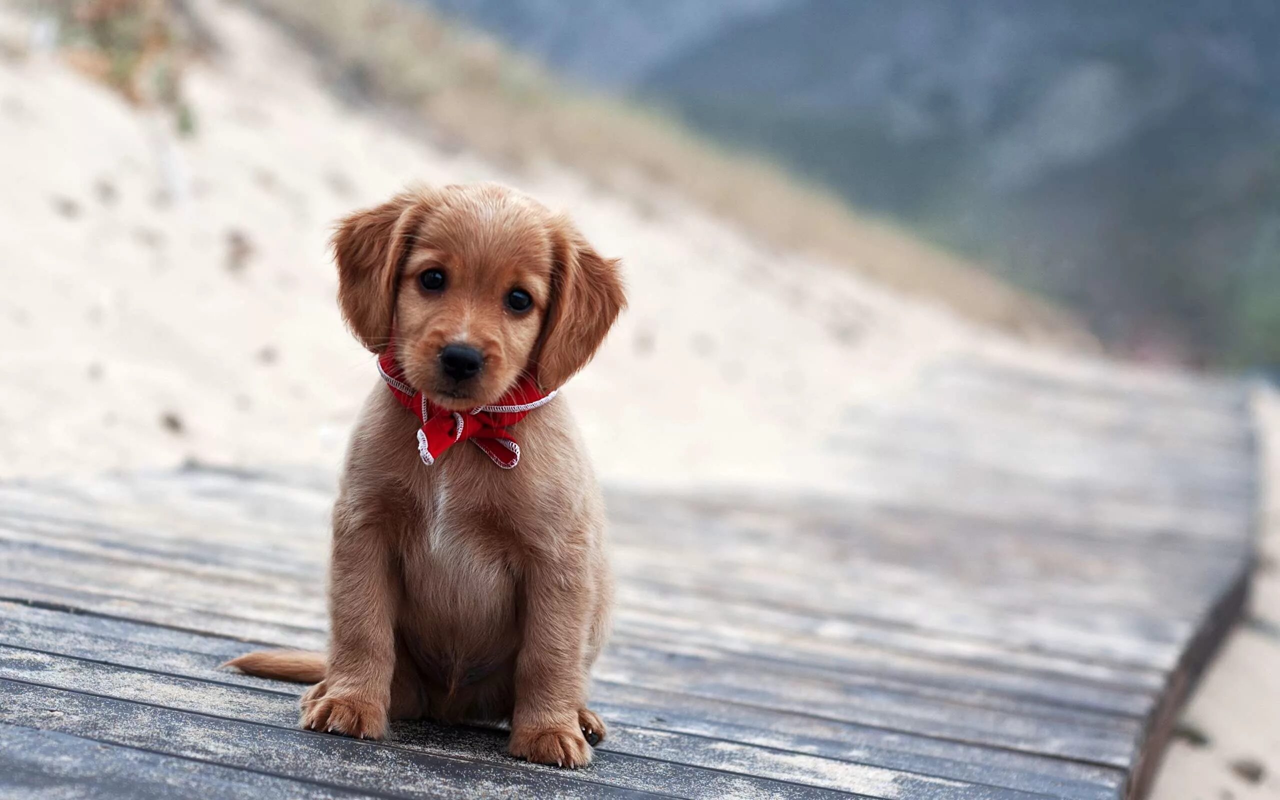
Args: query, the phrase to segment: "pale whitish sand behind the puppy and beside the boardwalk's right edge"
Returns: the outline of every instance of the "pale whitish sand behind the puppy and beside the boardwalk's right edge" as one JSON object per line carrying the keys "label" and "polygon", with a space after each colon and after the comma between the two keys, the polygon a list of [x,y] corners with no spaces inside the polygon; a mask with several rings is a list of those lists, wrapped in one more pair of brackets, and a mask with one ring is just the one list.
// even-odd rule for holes
{"label": "pale whitish sand behind the puppy and beside the boardwalk's right edge", "polygon": [[[567,390],[608,481],[840,489],[820,442],[849,403],[892,397],[948,352],[1025,357],[677,198],[637,206],[433,147],[340,105],[237,6],[211,19],[225,47],[189,77],[187,141],[49,56],[0,61],[3,476],[187,458],[334,468],[376,380],[333,302],[329,225],[408,180],[517,184],[625,259],[631,311]],[[29,33],[0,23],[5,51]],[[1272,621],[1275,581],[1260,593]],[[1276,796],[1280,763],[1257,786],[1228,764],[1280,751],[1277,648],[1235,636],[1192,712],[1211,742],[1179,745],[1157,796]]]}

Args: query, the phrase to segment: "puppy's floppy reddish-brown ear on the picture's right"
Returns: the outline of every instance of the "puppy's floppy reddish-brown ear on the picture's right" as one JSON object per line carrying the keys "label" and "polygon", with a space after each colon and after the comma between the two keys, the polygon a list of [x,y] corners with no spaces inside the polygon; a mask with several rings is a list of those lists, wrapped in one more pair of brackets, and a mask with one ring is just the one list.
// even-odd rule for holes
{"label": "puppy's floppy reddish-brown ear on the picture's right", "polygon": [[556,389],[586,366],[627,305],[618,259],[603,259],[567,218],[552,228],[552,297],[538,348],[538,383]]}

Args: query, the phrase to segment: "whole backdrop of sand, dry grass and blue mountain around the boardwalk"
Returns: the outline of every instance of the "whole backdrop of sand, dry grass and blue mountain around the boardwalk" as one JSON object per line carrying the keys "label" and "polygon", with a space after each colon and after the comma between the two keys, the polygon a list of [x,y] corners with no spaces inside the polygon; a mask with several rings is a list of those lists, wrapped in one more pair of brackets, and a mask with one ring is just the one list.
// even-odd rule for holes
{"label": "whole backdrop of sand, dry grass and blue mountain around the boardwalk", "polygon": [[[613,484],[874,483],[833,422],[965,353],[1265,379],[1277,41],[1270,0],[0,0],[0,475],[337,468],[376,379],[328,237],[412,182],[623,259],[570,387]],[[1157,796],[1280,796],[1275,630]]]}

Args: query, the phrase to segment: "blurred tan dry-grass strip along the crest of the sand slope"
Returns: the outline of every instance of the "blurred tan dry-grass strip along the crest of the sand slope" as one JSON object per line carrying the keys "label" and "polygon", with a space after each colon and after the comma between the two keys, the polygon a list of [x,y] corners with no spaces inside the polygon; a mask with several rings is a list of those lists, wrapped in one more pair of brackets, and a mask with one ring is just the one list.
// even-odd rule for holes
{"label": "blurred tan dry-grass strip along the crest of the sand slope", "polygon": [[[819,184],[691,134],[626,99],[566,88],[490,36],[404,0],[251,0],[307,42],[353,102],[393,106],[440,146],[513,169],[556,164],[654,211],[673,192],[758,241],[850,266],[892,289],[1018,338],[1071,348],[1096,339],[1055,303]],[[612,6],[611,6],[612,8]]]}

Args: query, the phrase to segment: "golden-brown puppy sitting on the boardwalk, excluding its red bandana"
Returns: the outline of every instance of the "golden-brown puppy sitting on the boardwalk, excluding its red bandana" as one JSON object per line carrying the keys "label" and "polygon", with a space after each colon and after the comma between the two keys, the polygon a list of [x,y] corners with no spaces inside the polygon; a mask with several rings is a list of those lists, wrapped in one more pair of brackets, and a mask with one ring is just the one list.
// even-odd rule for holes
{"label": "golden-brown puppy sitting on the boardwalk, excluding its red bandana", "polygon": [[[625,305],[617,261],[497,184],[399,195],[343,220],[334,250],[355,334],[381,353],[394,330],[406,381],[461,413],[524,375],[556,389]],[[449,346],[479,353],[477,371],[448,364]],[[582,767],[584,735],[604,736],[586,691],[612,579],[568,407],[557,398],[512,429],[515,468],[466,442],[425,465],[420,424],[379,380],[333,511],[328,658],[265,652],[229,664],[315,682],[306,728],[378,739],[388,719],[509,721],[512,755]]]}

